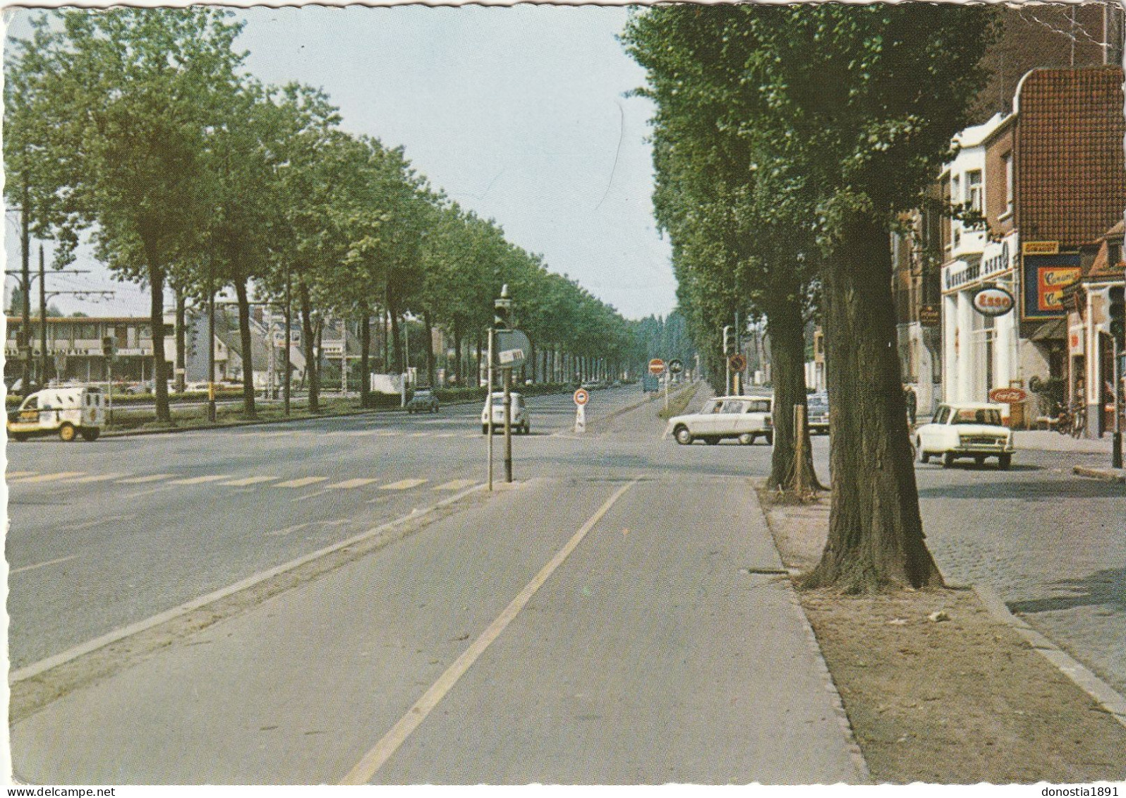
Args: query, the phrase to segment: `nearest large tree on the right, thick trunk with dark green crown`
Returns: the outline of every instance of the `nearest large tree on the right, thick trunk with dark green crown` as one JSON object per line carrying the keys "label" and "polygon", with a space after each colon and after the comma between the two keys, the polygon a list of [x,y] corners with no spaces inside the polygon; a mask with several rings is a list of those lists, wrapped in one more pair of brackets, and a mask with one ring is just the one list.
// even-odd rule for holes
{"label": "nearest large tree on the right, thick trunk with dark green crown", "polygon": [[[821,249],[832,503],[829,541],[808,582],[939,584],[908,440],[888,242],[896,215],[917,204],[968,120],[993,12],[823,5],[646,16],[677,11],[726,18],[709,46],[724,71],[736,69],[712,82],[708,97],[739,107],[730,124],[756,170],[793,176],[771,180],[775,203],[807,208],[812,218],[795,223],[814,225]],[[686,51],[692,69],[709,72],[712,60]]]}

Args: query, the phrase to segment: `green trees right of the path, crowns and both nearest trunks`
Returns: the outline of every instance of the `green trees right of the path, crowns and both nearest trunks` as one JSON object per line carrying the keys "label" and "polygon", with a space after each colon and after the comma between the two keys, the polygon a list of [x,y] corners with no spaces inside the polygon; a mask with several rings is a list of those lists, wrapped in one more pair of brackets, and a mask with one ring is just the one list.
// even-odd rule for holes
{"label": "green trees right of the path, crowns and both nearest trunks", "polygon": [[654,205],[692,337],[716,344],[700,347],[709,371],[723,374],[717,331],[734,313],[766,319],[775,487],[816,483],[787,409],[805,403],[805,323],[823,325],[832,499],[811,585],[941,582],[919,515],[890,233],[968,123],[994,25],[988,7],[942,3],[669,6],[623,35],[656,104]]}

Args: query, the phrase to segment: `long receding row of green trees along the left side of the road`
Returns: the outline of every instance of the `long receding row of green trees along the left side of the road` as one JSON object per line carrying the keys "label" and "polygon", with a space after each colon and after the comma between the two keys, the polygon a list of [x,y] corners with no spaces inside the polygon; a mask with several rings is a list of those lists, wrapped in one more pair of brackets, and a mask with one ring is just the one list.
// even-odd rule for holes
{"label": "long receding row of green trees along the left side of the road", "polygon": [[[401,320],[420,317],[428,333],[453,337],[457,382],[475,385],[463,348],[475,346],[480,360],[504,283],[536,347],[536,377],[643,367],[637,323],[449,201],[401,147],[341,129],[320,90],[247,74],[241,28],[231,11],[204,7],[34,18],[5,64],[5,190],[23,212],[25,275],[32,234],[54,240],[55,268],[89,240],[116,276],[148,286],[158,375],[168,373],[166,289],[181,330],[188,303],[233,290],[251,416],[256,302],[292,311],[302,326],[313,411],[327,317],[359,324],[361,374],[373,317],[388,320],[394,373]],[[432,380],[432,352],[428,370]],[[163,379],[155,403],[170,421]]]}

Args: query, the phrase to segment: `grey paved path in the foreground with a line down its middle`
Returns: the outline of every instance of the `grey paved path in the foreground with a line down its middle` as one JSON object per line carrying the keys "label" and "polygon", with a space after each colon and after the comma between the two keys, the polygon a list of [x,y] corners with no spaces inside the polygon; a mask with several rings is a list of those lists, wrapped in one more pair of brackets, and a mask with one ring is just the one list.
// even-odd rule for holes
{"label": "grey paved path in the foreground with a line down its middle", "polygon": [[17,721],[35,783],[865,783],[745,478],[542,479]]}

